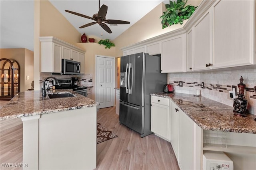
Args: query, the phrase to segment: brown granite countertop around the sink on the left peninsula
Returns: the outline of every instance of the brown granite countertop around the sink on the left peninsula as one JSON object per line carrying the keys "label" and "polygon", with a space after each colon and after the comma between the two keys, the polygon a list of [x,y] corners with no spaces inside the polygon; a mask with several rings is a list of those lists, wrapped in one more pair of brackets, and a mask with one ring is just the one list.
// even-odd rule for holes
{"label": "brown granite countertop around the sink on the left peninsula", "polygon": [[[50,93],[50,91],[48,92]],[[48,95],[46,98],[42,98],[41,91],[19,92],[10,102],[0,109],[0,120],[62,112],[99,105],[98,102],[77,94],[73,92],[73,90],[56,89],[55,92],[70,92],[74,94],[75,97],[50,99]]]}

